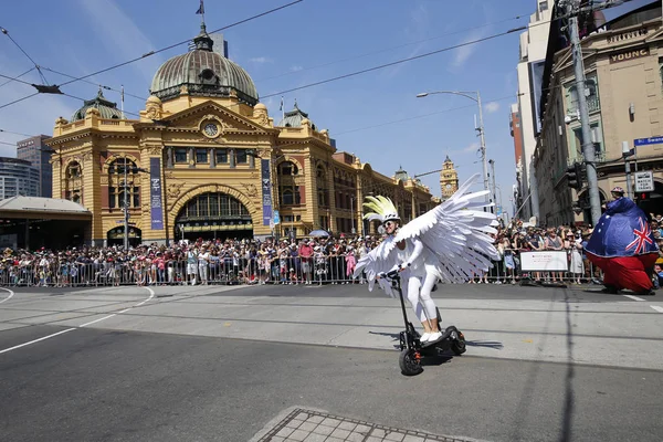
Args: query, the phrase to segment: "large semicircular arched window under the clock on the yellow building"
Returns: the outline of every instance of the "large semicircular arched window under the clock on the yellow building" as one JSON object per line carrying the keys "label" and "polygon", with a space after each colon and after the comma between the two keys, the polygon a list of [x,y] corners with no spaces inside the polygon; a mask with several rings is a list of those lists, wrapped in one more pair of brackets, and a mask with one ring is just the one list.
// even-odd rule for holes
{"label": "large semicircular arched window under the clock on the yellow building", "polygon": [[185,203],[175,219],[177,240],[251,239],[251,213],[236,198],[206,192]]}

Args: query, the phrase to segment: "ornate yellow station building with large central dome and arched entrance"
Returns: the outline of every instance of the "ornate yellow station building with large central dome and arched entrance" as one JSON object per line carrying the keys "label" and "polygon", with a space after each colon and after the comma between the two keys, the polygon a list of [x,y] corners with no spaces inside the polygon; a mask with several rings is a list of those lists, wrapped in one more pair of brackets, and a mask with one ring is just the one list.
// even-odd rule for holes
{"label": "ornate yellow station building with large central dome and arched entrance", "polygon": [[131,243],[365,233],[367,194],[391,197],[404,221],[438,202],[407,173],[337,151],[297,107],[274,124],[249,74],[212,44],[203,24],[192,51],[164,63],[139,119],[99,93],[55,122],[53,196],[92,212],[86,242],[122,243],[125,200]]}

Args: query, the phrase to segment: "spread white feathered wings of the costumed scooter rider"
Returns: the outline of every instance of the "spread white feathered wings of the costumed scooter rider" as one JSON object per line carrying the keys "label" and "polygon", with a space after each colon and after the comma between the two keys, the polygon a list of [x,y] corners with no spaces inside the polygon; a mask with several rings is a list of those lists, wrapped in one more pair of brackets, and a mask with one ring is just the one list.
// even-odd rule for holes
{"label": "spread white feathered wings of the costumed scooter rider", "polygon": [[[474,175],[450,199],[403,225],[396,238],[388,238],[361,257],[355,275],[365,271],[369,290],[372,290],[380,272],[388,272],[400,264],[393,253],[396,244],[412,238],[419,238],[430,252],[429,256],[434,256],[434,262],[427,262],[425,265],[433,269],[440,280],[462,283],[473,274],[487,272],[492,267],[491,259],[498,257],[494,240],[490,235],[497,233],[494,229],[497,221],[493,213],[481,210],[492,204],[484,201],[472,202],[487,194],[487,190],[467,193],[477,178],[478,173]],[[378,282],[385,292],[393,296],[387,282]]]}

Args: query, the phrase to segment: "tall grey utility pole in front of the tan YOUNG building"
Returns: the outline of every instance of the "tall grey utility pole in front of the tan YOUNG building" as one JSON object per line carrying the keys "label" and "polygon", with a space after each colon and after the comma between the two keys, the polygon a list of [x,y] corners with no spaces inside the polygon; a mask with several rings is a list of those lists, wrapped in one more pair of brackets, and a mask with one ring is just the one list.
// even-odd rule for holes
{"label": "tall grey utility pole in front of the tan YOUNG building", "polygon": [[591,224],[596,227],[601,218],[601,197],[599,196],[599,181],[597,178],[597,164],[594,146],[591,140],[589,126],[589,112],[587,108],[587,96],[585,90],[585,63],[582,60],[582,46],[578,31],[578,1],[566,2],[569,18],[569,33],[571,38],[571,53],[573,55],[573,71],[576,73],[576,91],[578,92],[578,109],[580,112],[580,124],[582,129],[582,156],[587,166],[587,187],[589,191],[589,204],[591,208]]}

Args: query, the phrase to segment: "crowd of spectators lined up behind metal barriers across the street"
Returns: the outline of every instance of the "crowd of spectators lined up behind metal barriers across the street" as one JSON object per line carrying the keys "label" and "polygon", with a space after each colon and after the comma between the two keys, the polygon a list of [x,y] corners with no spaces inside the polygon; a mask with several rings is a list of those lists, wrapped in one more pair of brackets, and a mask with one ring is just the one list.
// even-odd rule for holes
{"label": "crowd of spectators lined up behind metal barriers across the street", "polygon": [[[652,215],[651,228],[663,250],[663,219]],[[601,272],[585,253],[592,230],[569,225],[535,227],[514,219],[501,224],[495,238],[498,259],[493,269],[473,275],[471,284],[535,282],[600,284]],[[179,241],[170,246],[145,244],[71,248],[69,250],[3,251],[0,285],[176,285],[176,284],[361,284],[356,263],[376,248],[379,234],[337,238],[227,239]],[[520,254],[565,251],[568,272],[522,272]],[[663,280],[663,253],[655,274]],[[657,286],[659,277],[654,278]]]}

